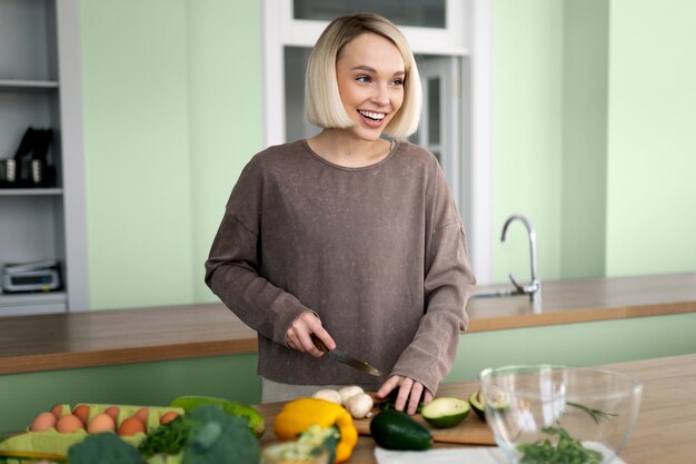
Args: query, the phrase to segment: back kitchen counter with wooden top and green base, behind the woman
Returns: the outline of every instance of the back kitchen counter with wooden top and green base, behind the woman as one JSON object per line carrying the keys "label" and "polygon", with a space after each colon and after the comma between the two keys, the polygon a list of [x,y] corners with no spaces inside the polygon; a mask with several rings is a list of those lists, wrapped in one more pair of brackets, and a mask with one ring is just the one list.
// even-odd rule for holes
{"label": "back kitchen counter with wooden top and green base, behind the woman", "polygon": [[[696,353],[696,274],[541,288],[537,306],[526,296],[470,300],[446,382],[503,364]],[[257,403],[256,351],[256,334],[221,304],[0,317],[0,431],[59,402],[163,405],[198,394]]]}

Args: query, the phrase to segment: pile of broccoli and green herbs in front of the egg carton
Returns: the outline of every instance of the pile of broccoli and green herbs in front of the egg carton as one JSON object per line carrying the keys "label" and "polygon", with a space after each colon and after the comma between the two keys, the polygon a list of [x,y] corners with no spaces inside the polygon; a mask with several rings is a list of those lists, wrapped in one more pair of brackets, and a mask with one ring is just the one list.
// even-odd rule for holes
{"label": "pile of broccoli and green herbs in front of the egg carton", "polygon": [[70,464],[258,464],[259,442],[247,421],[201,405],[150,432],[135,446],[112,433],[68,450]]}

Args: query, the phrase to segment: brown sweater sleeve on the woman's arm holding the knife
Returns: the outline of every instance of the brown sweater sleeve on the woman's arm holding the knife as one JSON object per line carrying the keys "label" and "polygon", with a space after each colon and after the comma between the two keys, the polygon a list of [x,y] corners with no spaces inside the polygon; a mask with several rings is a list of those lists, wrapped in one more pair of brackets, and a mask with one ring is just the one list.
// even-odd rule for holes
{"label": "brown sweater sleeve on the woman's arm holding the knife", "polygon": [[262,175],[250,162],[227,204],[206,261],[206,284],[245,324],[286,344],[302,312],[311,310],[260,275]]}

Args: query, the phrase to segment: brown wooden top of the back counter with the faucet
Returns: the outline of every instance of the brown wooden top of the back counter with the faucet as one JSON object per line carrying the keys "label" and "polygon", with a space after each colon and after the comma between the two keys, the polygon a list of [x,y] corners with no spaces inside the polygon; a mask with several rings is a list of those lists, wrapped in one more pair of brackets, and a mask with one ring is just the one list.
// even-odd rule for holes
{"label": "brown wooden top of the back counter with the faucet", "polygon": [[[467,312],[470,333],[694,313],[696,273],[544,282],[539,304],[526,296],[471,299]],[[0,374],[256,349],[253,330],[222,304],[0,317]]]}

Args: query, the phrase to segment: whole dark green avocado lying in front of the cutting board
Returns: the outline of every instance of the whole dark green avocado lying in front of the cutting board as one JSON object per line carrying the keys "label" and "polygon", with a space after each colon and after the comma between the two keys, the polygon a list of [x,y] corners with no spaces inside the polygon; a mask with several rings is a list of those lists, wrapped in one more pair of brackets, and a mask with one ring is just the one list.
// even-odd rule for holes
{"label": "whole dark green avocado lying in front of the cutting board", "polygon": [[387,450],[425,451],[432,446],[432,434],[401,411],[387,409],[370,421],[370,435]]}

